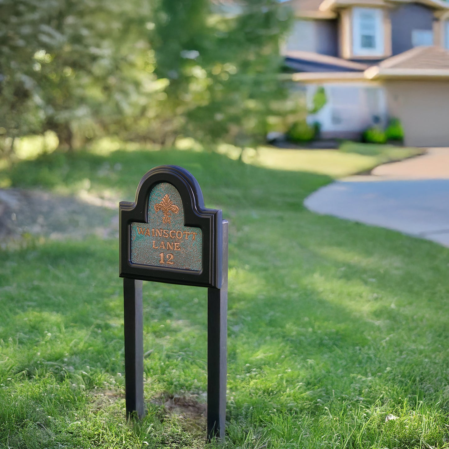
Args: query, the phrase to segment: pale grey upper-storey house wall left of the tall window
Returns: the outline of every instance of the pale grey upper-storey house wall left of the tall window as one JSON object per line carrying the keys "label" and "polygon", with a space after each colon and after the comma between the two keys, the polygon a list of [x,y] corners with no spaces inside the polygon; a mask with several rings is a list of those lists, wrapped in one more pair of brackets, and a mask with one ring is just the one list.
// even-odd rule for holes
{"label": "pale grey upper-storey house wall left of the tall window", "polygon": [[286,50],[338,56],[336,20],[297,20],[286,42]]}

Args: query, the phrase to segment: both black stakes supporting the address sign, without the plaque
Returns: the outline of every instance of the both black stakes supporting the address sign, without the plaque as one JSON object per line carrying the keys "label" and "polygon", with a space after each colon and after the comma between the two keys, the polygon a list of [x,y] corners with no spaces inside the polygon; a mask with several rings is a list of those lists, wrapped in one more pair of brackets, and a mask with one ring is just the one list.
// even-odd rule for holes
{"label": "both black stakes supporting the address sign, without the plaque", "polygon": [[[221,288],[207,289],[207,439],[225,437],[228,311],[228,222],[223,220]],[[145,415],[142,281],[123,279],[127,418]]]}

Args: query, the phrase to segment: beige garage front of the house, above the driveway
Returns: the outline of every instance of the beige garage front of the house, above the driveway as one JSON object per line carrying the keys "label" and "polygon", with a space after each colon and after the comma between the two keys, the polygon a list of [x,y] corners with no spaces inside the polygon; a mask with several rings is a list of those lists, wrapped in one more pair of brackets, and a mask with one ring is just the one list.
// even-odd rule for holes
{"label": "beige garage front of the house, above the driveway", "polygon": [[449,81],[384,82],[388,106],[401,120],[404,143],[449,146]]}

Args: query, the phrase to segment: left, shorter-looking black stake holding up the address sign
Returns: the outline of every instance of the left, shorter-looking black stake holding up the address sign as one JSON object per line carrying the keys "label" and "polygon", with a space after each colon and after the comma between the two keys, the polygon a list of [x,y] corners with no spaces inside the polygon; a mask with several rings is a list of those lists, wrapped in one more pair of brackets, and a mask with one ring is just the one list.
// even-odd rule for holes
{"label": "left, shorter-looking black stake holding up the address sign", "polygon": [[143,304],[142,281],[123,279],[125,324],[126,417],[145,414],[143,401]]}

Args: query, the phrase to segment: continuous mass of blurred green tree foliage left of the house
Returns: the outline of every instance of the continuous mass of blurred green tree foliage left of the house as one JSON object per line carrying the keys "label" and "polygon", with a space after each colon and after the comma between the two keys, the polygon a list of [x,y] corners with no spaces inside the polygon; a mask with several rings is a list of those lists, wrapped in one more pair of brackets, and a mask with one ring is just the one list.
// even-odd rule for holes
{"label": "continuous mass of blurred green tree foliage left of the house", "polygon": [[276,0],[2,0],[0,136],[254,141],[283,113]]}

